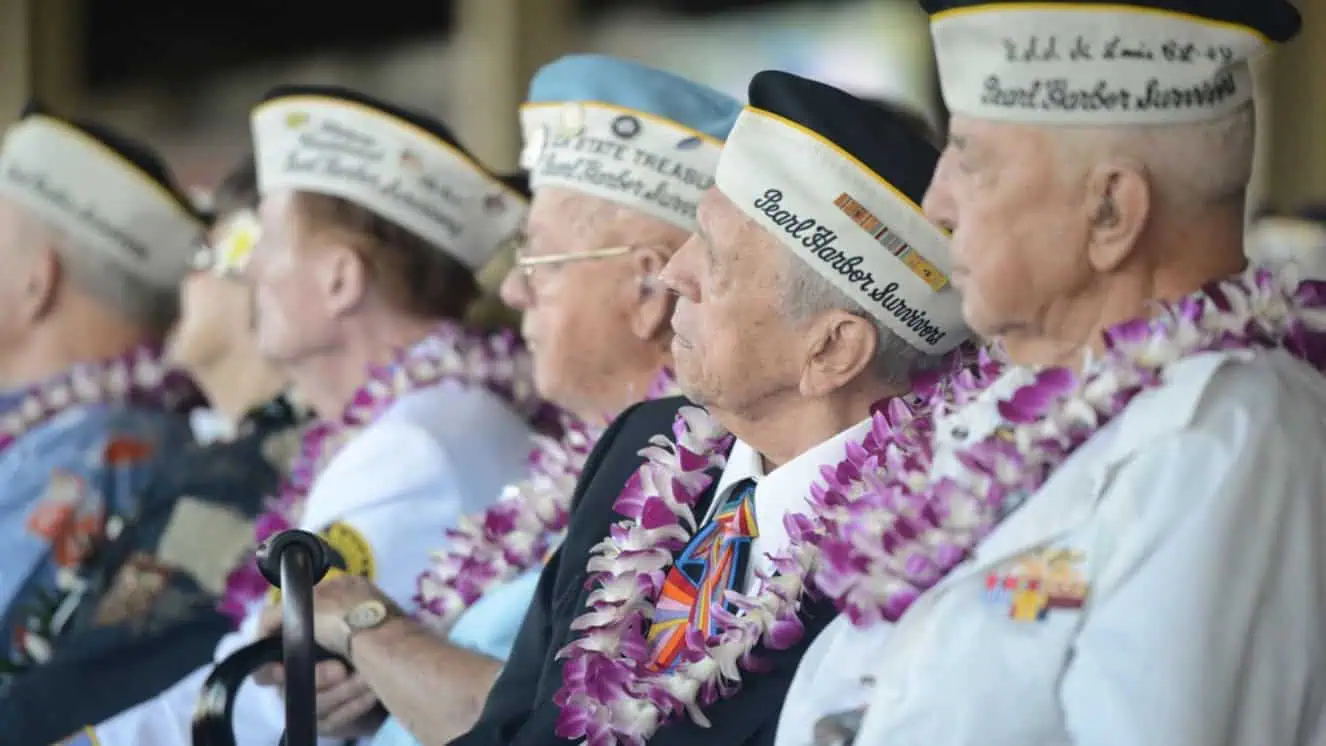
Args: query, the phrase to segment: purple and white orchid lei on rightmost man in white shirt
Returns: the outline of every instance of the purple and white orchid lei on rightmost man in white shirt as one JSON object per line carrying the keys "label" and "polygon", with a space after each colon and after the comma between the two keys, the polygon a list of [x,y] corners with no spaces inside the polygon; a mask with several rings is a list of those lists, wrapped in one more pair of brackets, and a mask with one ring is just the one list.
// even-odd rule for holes
{"label": "purple and white orchid lei on rightmost man in white shirt", "polygon": [[[936,462],[934,441],[903,458],[858,453],[821,490],[815,511],[831,530],[813,533],[817,591],[854,624],[895,621],[927,588],[967,559],[1016,505],[1166,370],[1217,350],[1284,348],[1326,368],[1326,284],[1298,269],[1250,268],[1148,317],[1105,333],[1105,352],[1082,372],[1018,371],[1030,382],[997,401],[1002,427]],[[989,380],[993,383],[993,379]],[[789,517],[789,529],[804,527]]]}

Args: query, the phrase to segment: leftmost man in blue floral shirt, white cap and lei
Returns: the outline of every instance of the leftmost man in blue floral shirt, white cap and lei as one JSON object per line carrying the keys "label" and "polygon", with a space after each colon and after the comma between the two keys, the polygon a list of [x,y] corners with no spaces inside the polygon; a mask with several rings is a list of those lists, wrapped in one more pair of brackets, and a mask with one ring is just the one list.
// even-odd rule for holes
{"label": "leftmost man in blue floral shirt, white cap and lei", "polygon": [[[150,148],[30,106],[0,147],[3,673],[46,663],[85,571],[188,443],[159,345],[203,217]],[[5,723],[0,722],[0,729]]]}

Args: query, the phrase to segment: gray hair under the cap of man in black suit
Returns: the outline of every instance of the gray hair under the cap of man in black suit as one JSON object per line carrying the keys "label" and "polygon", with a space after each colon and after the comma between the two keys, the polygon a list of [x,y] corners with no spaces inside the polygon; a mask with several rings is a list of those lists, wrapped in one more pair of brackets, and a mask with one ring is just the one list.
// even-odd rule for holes
{"label": "gray hair under the cap of man in black suit", "polygon": [[870,319],[875,326],[875,358],[870,368],[886,383],[906,386],[915,375],[943,364],[944,355],[931,355],[912,347],[813,266],[796,257],[789,260],[782,286],[782,310],[790,321],[804,322],[835,309]]}

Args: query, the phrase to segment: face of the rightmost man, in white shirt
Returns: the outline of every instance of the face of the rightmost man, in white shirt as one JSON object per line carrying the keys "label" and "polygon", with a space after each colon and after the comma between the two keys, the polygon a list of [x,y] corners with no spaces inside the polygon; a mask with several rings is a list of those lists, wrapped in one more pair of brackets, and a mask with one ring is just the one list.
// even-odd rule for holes
{"label": "face of the rightmost man, in white shirt", "polygon": [[926,193],[952,231],[953,285],[981,337],[1034,338],[1090,280],[1085,183],[1045,130],[953,117]]}

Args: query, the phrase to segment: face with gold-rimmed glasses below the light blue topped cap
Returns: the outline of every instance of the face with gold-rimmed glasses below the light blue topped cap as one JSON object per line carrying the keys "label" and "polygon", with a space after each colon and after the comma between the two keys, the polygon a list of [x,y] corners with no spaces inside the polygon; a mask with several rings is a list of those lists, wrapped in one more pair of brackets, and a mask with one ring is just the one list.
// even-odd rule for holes
{"label": "face with gold-rimmed glasses below the light blue topped cap", "polygon": [[622,371],[642,339],[633,319],[642,281],[631,246],[631,213],[606,200],[546,187],[530,204],[522,258],[501,285],[522,311],[521,334],[534,358],[534,383],[550,401],[583,417],[610,415],[626,396]]}

